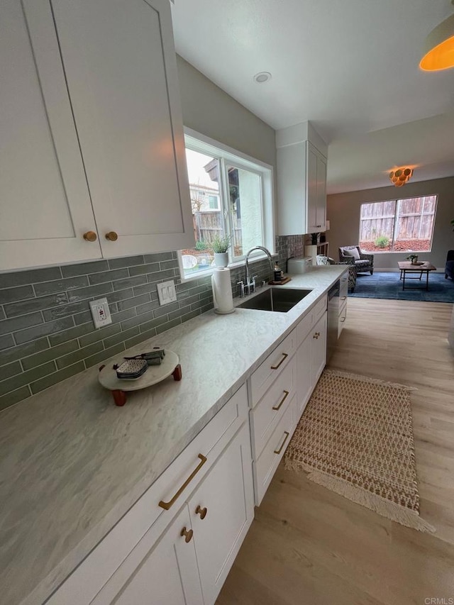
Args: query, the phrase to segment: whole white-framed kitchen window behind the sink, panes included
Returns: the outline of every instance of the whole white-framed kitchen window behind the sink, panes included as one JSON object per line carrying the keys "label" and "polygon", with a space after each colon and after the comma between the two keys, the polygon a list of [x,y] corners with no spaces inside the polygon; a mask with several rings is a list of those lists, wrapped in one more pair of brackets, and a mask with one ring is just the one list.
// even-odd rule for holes
{"label": "whole white-framed kitchen window behind the sink, panes included", "polygon": [[190,132],[185,145],[196,244],[179,250],[183,281],[211,272],[217,237],[230,235],[229,266],[241,264],[256,245],[274,252],[272,167]]}

